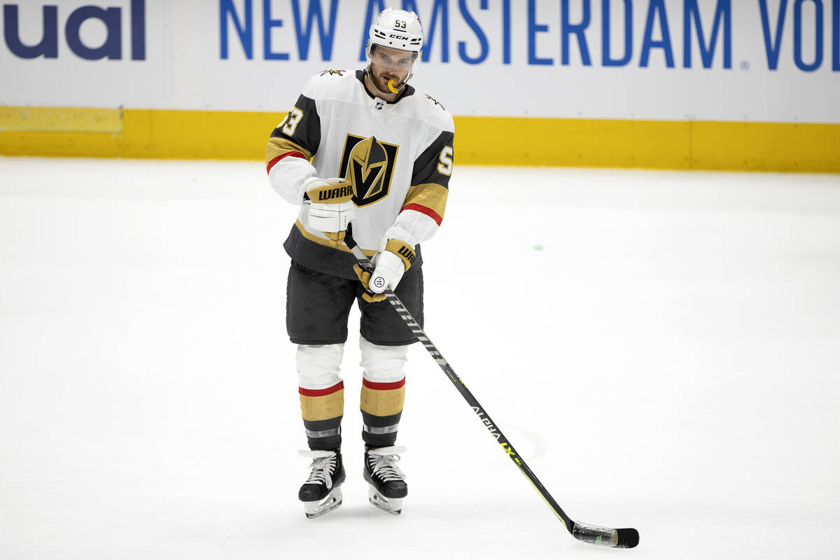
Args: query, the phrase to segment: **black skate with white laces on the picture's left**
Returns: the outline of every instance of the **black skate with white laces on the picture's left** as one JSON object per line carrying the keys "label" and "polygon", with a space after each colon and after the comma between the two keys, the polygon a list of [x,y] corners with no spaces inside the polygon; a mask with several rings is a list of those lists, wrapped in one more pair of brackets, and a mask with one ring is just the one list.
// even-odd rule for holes
{"label": "black skate with white laces on the picture's left", "polygon": [[323,516],[341,505],[341,483],[344,482],[344,463],[341,453],[334,451],[302,451],[303,457],[312,459],[309,478],[297,492],[303,502],[307,518]]}

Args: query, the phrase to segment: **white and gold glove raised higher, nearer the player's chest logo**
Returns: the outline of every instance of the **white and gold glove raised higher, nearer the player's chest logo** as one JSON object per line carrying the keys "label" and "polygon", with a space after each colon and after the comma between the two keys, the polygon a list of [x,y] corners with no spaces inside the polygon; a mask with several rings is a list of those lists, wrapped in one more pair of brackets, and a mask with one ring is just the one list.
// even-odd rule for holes
{"label": "white and gold glove raised higher, nearer the player's chest logo", "polygon": [[333,247],[344,243],[347,224],[356,217],[353,184],[340,177],[321,179],[313,177],[303,184],[311,201],[309,225],[322,231]]}

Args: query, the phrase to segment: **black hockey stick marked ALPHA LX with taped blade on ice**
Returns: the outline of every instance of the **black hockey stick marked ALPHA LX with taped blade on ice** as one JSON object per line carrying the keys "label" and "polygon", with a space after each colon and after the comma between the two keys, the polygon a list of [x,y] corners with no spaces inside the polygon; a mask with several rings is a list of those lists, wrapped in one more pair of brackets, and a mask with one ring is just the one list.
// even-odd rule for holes
{"label": "black hockey stick marked ALPHA LX with taped blade on ice", "polygon": [[[352,228],[350,226],[347,228],[347,234],[344,236],[344,243],[347,244],[347,247],[354,254],[356,260],[359,261],[360,266],[372,275],[374,266],[362,252],[359,245],[356,244],[353,238]],[[429,340],[426,333],[423,332],[423,329],[417,324],[417,321],[414,320],[411,313],[408,312],[406,306],[402,305],[400,298],[396,296],[393,290],[386,289],[384,294],[387,301],[391,303],[391,306],[393,306],[397,315],[402,317],[402,321],[405,322],[406,326],[411,329],[415,336],[417,336],[417,340],[423,343],[423,346],[428,350],[428,353],[431,354],[434,361],[440,366],[440,369],[444,370],[444,374],[449,377],[449,380],[455,385],[455,389],[458,390],[461,396],[463,396],[467,401],[467,404],[470,405],[473,411],[475,411],[475,414],[487,427],[491,435],[496,438],[496,441],[499,442],[501,448],[505,451],[505,453],[507,453],[507,456],[511,458],[513,463],[517,465],[520,471],[522,471],[522,474],[524,474],[528,481],[533,484],[533,487],[537,489],[539,494],[543,496],[543,500],[545,500],[545,503],[549,505],[552,511],[554,511],[554,515],[557,516],[560,521],[563,521],[563,525],[566,527],[566,530],[570,532],[571,536],[574,536],[579,541],[590,542],[591,544],[601,545],[603,547],[633,548],[638,545],[638,531],[633,528],[608,529],[606,527],[581,523],[580,521],[572,521],[570,516],[567,516],[558,503],[554,501],[554,498],[551,497],[549,490],[545,489],[543,483],[537,479],[537,475],[533,474],[531,468],[525,464],[525,461],[519,456],[516,449],[513,448],[511,442],[507,441],[507,437],[501,433],[499,427],[496,426],[490,416],[487,415],[484,408],[479,404],[478,400],[475,399],[475,396],[470,393],[470,390],[466,388],[466,385],[464,385],[464,382],[458,377],[458,374],[455,374],[454,369],[452,369],[452,366],[446,361],[443,354],[441,354],[438,348],[431,340]]]}

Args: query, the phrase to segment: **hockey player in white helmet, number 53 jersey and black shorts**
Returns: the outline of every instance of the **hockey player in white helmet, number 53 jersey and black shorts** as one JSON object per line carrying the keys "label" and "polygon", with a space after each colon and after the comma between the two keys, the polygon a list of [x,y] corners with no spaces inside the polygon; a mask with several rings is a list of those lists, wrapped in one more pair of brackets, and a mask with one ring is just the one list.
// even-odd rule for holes
{"label": "hockey player in white helmet, number 53 jersey and black shorts", "polygon": [[[360,408],[364,479],[370,502],[392,514],[407,495],[396,466],[396,430],[405,398],[412,332],[382,292],[391,289],[423,323],[420,243],[444,217],[453,165],[454,123],[408,81],[423,49],[417,14],[387,8],[370,27],[364,70],[323,71],[271,133],[270,185],[301,207],[284,248],[291,256],[286,328],[297,344],[303,426],[312,458],[298,497],[307,517],[341,505],[344,462],[339,369],[349,310],[361,312]],[[363,272],[344,244],[352,235],[374,262]]]}

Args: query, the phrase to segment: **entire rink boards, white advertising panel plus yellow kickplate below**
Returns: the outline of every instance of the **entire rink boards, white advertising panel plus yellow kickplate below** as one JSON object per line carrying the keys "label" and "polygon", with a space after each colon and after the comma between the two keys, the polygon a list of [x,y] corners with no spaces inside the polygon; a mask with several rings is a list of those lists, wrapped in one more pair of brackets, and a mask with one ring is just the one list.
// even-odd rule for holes
{"label": "entire rink boards, white advertising panel plus yellow kickplate below", "polygon": [[840,0],[9,2],[0,154],[260,160],[386,6],[459,163],[840,171]]}

